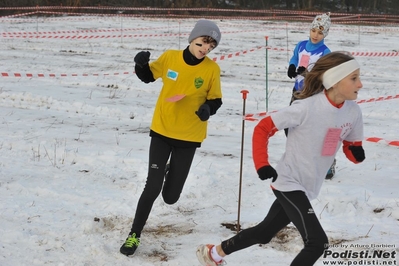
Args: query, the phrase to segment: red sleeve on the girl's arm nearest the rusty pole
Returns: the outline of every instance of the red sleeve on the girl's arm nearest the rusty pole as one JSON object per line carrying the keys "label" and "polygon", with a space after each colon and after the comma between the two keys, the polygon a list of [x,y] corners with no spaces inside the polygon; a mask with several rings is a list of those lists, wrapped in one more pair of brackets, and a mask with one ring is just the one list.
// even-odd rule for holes
{"label": "red sleeve on the girl's arm nearest the rusty pole", "polygon": [[278,129],[270,116],[263,118],[254,129],[252,136],[252,158],[255,168],[258,170],[262,166],[269,164],[269,155],[267,153],[267,145],[269,138],[276,133]]}

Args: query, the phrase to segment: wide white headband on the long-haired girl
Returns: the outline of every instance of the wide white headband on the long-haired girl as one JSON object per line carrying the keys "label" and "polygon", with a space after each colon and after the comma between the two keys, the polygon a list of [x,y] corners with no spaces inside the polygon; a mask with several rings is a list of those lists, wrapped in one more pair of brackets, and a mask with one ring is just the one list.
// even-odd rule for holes
{"label": "wide white headband on the long-haired girl", "polygon": [[324,88],[329,89],[338,82],[340,82],[343,78],[348,76],[350,73],[359,69],[360,65],[356,62],[355,59],[349,60],[345,63],[342,63],[338,66],[330,68],[323,75],[323,85]]}

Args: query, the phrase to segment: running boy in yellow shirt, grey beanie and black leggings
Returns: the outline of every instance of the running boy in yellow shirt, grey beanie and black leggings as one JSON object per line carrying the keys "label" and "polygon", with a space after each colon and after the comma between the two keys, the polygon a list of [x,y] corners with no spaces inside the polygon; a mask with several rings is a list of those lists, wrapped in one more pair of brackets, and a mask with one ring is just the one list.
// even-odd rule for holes
{"label": "running boy in yellow shirt, grey beanie and black leggings", "polygon": [[134,58],[138,78],[144,83],[161,78],[163,87],[150,128],[146,185],[129,236],[120,248],[126,256],[139,246],[141,231],[161,191],[165,203],[178,201],[195,151],[206,138],[207,121],[222,105],[220,68],[207,57],[220,39],[219,27],[203,19],[191,31],[186,49],[168,50],[151,63],[148,51]]}

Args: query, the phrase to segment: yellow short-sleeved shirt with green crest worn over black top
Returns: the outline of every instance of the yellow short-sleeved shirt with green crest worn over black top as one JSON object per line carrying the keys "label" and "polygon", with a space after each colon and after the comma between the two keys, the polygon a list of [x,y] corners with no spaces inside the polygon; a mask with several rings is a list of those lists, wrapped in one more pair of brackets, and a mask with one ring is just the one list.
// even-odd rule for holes
{"label": "yellow short-sleeved shirt with green crest worn over black top", "polygon": [[154,79],[163,81],[151,130],[168,138],[202,142],[208,123],[195,112],[206,100],[222,98],[219,65],[205,57],[190,66],[184,62],[183,50],[168,50],[150,63],[150,69]]}

